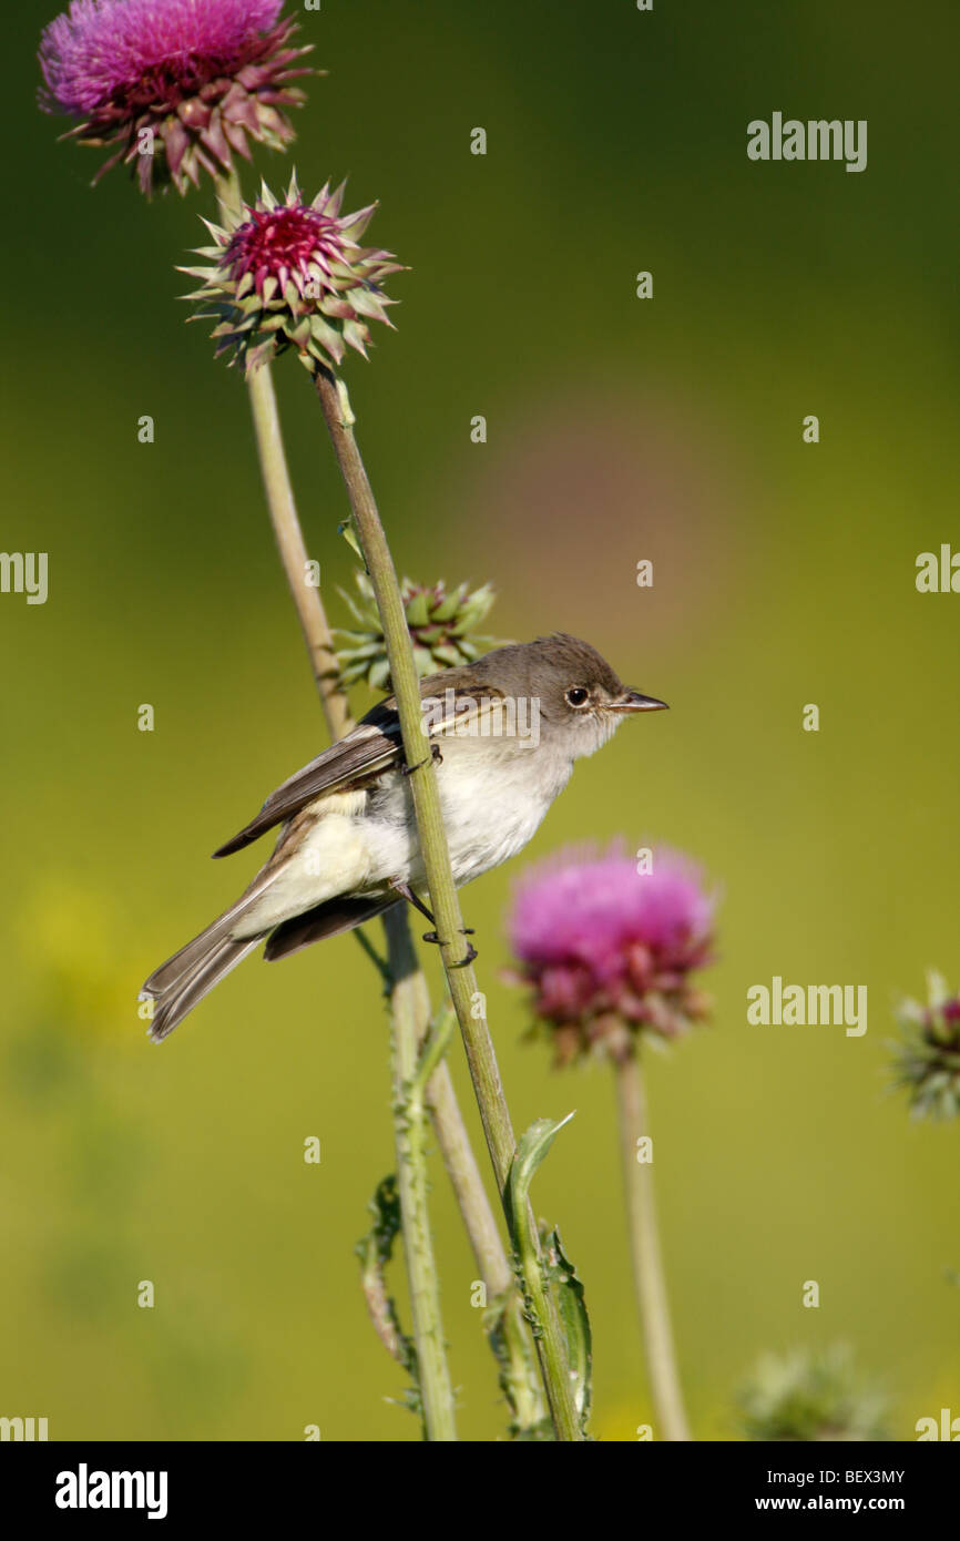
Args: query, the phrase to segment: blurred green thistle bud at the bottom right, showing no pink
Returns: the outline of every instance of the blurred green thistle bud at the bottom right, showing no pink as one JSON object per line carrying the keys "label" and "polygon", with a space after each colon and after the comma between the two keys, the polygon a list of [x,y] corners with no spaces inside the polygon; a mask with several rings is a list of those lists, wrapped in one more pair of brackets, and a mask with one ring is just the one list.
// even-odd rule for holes
{"label": "blurred green thistle bud at the bottom right, showing no pink", "polygon": [[858,1384],[844,1344],[764,1355],[737,1401],[747,1439],[889,1439],[886,1398]]}

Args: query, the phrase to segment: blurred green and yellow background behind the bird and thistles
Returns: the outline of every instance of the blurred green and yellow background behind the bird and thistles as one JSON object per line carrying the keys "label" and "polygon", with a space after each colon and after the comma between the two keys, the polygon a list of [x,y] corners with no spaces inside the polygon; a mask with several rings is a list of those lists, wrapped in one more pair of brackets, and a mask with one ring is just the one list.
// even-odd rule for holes
{"label": "blurred green and yellow background behind the bird and thistles", "polygon": [[[162,1049],[136,1012],[149,968],[254,869],[208,852],[324,734],[242,382],[177,299],[210,194],[151,206],[122,171],[89,190],[97,153],[34,106],[52,14],[6,17],[2,544],[49,552],[49,599],[0,598],[0,1412],[48,1416],[54,1439],[415,1439],[353,1256],[393,1163],[356,942],[248,962]],[[723,889],[715,1022],[650,1069],[695,1432],[738,1436],[732,1392],[763,1350],[843,1339],[912,1438],[960,1413],[957,1131],[911,1125],[886,1073],[897,995],[929,965],[960,980],[960,598],[914,587],[918,552],[960,547],[955,8],[325,0],[302,22],[330,76],[294,156],[257,170],[276,185],[293,159],[311,191],[348,173],[348,206],[379,197],[371,237],[410,264],[398,333],[348,374],[398,566],[492,579],[488,629],[581,633],[672,706],[578,769],[529,858],[666,840]],[[746,125],[775,109],[868,119],[866,173],[749,162]],[[342,616],[344,493],[284,364]],[[525,860],[465,911],[515,1122],[578,1110],[536,1202],[587,1285],[593,1430],[632,1439],[650,1404],[612,1085],[552,1073],[501,979]],[[746,989],[774,974],[866,983],[866,1037],[747,1026]],[[439,1160],[435,1213],[459,1429],[496,1438]]]}

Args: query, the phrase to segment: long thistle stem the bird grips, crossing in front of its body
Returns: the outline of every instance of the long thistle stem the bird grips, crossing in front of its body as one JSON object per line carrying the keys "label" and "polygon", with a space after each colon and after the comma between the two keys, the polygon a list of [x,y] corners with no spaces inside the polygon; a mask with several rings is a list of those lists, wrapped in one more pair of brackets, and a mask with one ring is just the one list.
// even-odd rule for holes
{"label": "long thistle stem the bird grips, crossing in front of its body", "polygon": [[[468,963],[468,948],[450,868],[447,832],[441,815],[433,760],[421,730],[421,690],[393,556],[390,555],[373,490],[353,436],[353,413],[347,388],[342,381],[334,379],[325,370],[317,371],[316,388],[347,485],[356,532],[384,627],[404,754],[407,764],[415,767],[410,772],[413,811],[424,854],[430,903],[436,917],[441,957],[467,1051],[467,1063],[493,1162],[498,1191],[501,1199],[504,1199],[516,1140],[499,1079],[493,1040],[482,1009],[484,997],[478,989],[476,974]],[[556,1438],[581,1439],[582,1435],[573,1407],[566,1344],[552,1299],[547,1299],[544,1318],[538,1325],[536,1348]]]}

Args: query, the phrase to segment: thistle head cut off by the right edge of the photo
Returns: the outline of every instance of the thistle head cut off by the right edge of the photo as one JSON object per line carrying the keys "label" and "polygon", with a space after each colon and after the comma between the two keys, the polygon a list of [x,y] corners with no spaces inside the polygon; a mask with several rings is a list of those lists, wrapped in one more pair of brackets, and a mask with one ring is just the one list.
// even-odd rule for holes
{"label": "thistle head cut off by the right edge of the photo", "polygon": [[894,1045],[895,1085],[903,1086],[915,1119],[955,1119],[960,1113],[960,995],[942,974],[926,975],[928,1003],[903,1000],[897,1008],[900,1043]]}

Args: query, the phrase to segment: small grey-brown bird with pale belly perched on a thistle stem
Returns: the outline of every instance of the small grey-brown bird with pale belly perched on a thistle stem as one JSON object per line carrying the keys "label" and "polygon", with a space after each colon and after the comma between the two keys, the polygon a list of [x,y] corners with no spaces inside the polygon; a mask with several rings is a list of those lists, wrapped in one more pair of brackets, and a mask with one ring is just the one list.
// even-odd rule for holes
{"label": "small grey-brown bird with pale belly perched on a thistle stem", "polygon": [[[629,690],[576,636],[499,647],[421,681],[424,758],[436,778],[458,888],[516,855],[592,755],[630,712],[666,706]],[[287,957],[404,900],[430,915],[408,767],[393,700],[273,792],[230,855],[280,824],[273,855],[219,920],[149,975],[160,1042],[267,937]],[[433,917],[430,917],[433,918]],[[435,940],[435,938],[433,938]]]}

